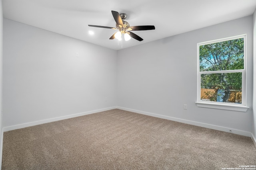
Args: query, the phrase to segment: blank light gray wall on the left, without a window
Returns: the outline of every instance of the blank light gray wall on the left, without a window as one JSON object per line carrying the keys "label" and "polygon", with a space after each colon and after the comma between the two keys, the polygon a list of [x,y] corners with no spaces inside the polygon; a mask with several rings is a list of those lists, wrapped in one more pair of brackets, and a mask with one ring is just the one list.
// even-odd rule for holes
{"label": "blank light gray wall on the left, without a window", "polygon": [[116,106],[116,51],[7,19],[3,39],[4,127]]}

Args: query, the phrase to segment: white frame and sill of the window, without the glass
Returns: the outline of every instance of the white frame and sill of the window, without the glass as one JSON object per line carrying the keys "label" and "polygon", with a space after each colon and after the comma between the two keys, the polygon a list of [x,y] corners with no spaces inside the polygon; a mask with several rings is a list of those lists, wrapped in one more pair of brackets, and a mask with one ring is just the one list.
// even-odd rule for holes
{"label": "white frame and sill of the window, without the glass", "polygon": [[[244,38],[244,69],[200,72],[200,60],[199,60],[200,45],[218,43],[222,41],[229,41],[232,39],[239,39],[239,38]],[[232,72],[242,72],[242,104],[234,104],[234,103],[226,103],[226,102],[222,103],[222,102],[201,100],[201,74],[232,73]],[[214,109],[224,109],[224,110],[243,111],[243,112],[247,111],[249,107],[246,106],[246,34],[197,43],[197,102],[196,102],[196,105],[198,107],[207,107],[207,108],[214,108]]]}

